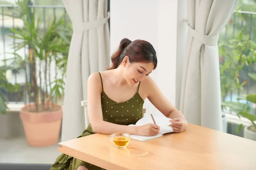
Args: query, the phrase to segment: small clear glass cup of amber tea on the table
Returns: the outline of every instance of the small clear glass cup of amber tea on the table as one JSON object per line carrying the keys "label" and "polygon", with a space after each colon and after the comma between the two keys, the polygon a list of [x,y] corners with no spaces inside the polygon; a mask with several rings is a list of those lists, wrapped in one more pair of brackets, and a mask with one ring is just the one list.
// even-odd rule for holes
{"label": "small clear glass cup of amber tea on the table", "polygon": [[113,133],[109,138],[117,148],[125,148],[130,142],[131,135],[129,133],[118,132]]}

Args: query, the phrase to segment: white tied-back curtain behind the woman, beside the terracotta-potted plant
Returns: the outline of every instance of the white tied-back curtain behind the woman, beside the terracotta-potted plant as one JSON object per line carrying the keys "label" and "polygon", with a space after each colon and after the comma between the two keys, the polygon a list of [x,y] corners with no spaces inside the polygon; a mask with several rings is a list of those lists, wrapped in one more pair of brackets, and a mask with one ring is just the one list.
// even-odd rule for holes
{"label": "white tied-back curtain behind the woman, beside the terracotta-potted plant", "polygon": [[110,65],[108,0],[63,0],[73,25],[67,62],[61,141],[75,139],[85,129],[81,100],[87,99],[91,73]]}

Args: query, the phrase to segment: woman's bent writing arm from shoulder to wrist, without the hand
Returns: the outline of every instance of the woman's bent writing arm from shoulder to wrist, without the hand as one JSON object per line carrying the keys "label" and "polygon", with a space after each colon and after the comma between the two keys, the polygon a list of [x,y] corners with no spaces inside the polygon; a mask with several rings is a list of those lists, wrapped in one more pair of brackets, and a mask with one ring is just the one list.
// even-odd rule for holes
{"label": "woman's bent writing arm from shoulder to wrist, without the hand", "polygon": [[135,126],[116,125],[103,120],[101,93],[102,86],[99,73],[93,73],[87,81],[87,110],[93,132],[105,134],[116,132],[137,133]]}

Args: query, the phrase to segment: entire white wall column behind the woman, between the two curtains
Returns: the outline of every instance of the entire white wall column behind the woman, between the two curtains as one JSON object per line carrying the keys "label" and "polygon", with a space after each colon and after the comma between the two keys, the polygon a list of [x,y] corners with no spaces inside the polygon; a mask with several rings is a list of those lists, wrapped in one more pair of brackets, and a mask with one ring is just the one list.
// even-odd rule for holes
{"label": "entire white wall column behind the woman, between the two curtains", "polygon": [[[122,38],[150,42],[157,51],[157,69],[151,73],[166,98],[175,105],[178,0],[111,0],[111,54]],[[145,100],[146,113],[158,112]]]}

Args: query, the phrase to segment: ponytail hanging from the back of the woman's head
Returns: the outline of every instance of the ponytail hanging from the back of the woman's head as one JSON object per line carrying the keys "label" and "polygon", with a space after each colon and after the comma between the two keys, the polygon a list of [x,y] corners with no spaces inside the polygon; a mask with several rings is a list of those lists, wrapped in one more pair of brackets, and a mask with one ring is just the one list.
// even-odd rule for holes
{"label": "ponytail hanging from the back of the woman's head", "polygon": [[118,68],[120,65],[120,56],[125,50],[125,48],[131,43],[131,40],[124,38],[121,40],[119,44],[118,50],[111,56],[111,61],[112,61],[112,67],[108,68],[108,70],[112,70],[115,68]]}

